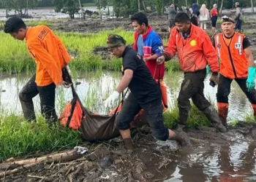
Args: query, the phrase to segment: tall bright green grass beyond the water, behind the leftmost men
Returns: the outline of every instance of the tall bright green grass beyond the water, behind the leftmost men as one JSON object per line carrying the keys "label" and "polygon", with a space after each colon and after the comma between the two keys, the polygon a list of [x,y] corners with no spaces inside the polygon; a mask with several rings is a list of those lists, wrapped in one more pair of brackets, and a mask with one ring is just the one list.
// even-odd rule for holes
{"label": "tall bright green grass beyond the water, behind the leftmost men", "polygon": [[[118,70],[121,68],[121,60],[117,60],[116,58],[102,60],[101,56],[94,55],[92,52],[94,47],[106,46],[106,39],[110,33],[118,33],[127,40],[127,44],[132,44],[132,33],[125,32],[121,29],[102,31],[97,34],[56,32],[70,54],[78,55],[70,63],[70,67],[77,71],[101,70],[102,68]],[[10,74],[13,72],[34,71],[35,63],[26,50],[25,41],[17,41],[4,32],[0,32],[0,36],[0,71],[7,71]]]}

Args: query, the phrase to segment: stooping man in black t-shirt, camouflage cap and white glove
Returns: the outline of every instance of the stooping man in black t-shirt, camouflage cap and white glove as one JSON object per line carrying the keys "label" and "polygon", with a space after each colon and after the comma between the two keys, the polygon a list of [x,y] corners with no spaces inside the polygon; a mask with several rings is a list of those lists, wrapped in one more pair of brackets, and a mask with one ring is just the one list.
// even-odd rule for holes
{"label": "stooping man in black t-shirt, camouflage cap and white glove", "polygon": [[133,149],[129,130],[130,122],[142,108],[147,115],[152,133],[157,139],[161,141],[176,140],[181,142],[181,145],[188,145],[189,139],[184,132],[176,133],[164,126],[162,93],[159,85],[152,78],[143,58],[132,48],[126,47],[126,41],[121,36],[114,34],[108,36],[107,44],[108,50],[116,58],[123,58],[123,77],[116,91],[105,100],[105,106],[108,107],[113,104],[127,87],[131,91],[127,99],[124,100],[121,111],[116,118],[126,149],[129,151]]}

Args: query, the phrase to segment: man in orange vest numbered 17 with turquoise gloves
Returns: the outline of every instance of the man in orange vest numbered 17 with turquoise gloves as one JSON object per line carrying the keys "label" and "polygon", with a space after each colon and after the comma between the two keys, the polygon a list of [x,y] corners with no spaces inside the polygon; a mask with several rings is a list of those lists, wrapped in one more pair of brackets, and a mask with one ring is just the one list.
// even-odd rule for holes
{"label": "man in orange vest numbered 17 with turquoise gloves", "polygon": [[230,84],[236,80],[241,90],[252,103],[256,117],[255,64],[249,39],[243,33],[236,33],[235,20],[222,17],[222,31],[214,36],[214,47],[220,59],[217,105],[222,124],[227,124],[228,95]]}

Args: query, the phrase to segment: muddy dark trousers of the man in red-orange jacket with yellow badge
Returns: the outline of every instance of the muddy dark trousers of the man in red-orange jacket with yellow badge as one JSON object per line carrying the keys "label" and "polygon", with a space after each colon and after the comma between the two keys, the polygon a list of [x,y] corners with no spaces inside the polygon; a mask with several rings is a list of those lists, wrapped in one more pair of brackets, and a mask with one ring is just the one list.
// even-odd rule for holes
{"label": "muddy dark trousers of the man in red-orange jacket with yellow badge", "polygon": [[[209,103],[203,95],[203,81],[205,77],[206,68],[200,71],[184,73],[184,80],[181,83],[181,90],[178,94],[178,124],[187,124],[189,111],[191,109],[189,98],[192,98],[192,102],[195,106],[206,114],[212,124],[214,122],[219,122],[219,118],[216,118],[217,111],[214,111],[213,108],[208,109],[210,108],[211,103]],[[215,118],[213,119],[213,117]]]}

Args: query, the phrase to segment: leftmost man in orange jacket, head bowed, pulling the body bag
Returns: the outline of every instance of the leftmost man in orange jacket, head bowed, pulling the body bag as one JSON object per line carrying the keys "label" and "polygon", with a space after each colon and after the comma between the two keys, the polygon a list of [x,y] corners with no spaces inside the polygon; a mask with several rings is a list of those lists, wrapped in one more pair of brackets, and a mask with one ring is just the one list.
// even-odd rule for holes
{"label": "leftmost man in orange jacket, head bowed, pulling the body bag", "polygon": [[64,84],[61,69],[71,60],[64,44],[45,25],[27,27],[19,17],[11,17],[4,25],[4,32],[17,40],[26,39],[29,55],[37,65],[37,72],[19,92],[23,114],[27,121],[36,121],[32,98],[39,94],[41,112],[49,124],[58,121],[55,111],[56,86]]}

